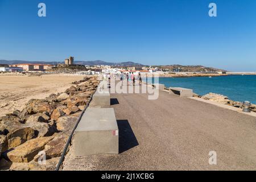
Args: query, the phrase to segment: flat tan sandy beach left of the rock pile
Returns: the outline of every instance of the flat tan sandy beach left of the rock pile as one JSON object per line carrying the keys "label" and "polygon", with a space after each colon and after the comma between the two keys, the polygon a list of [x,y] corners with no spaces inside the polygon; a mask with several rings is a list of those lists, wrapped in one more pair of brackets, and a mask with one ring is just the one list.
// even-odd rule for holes
{"label": "flat tan sandy beach left of the rock pile", "polygon": [[73,81],[81,80],[79,75],[27,75],[0,74],[0,117],[14,110],[22,110],[32,98],[43,99],[52,93],[64,92]]}

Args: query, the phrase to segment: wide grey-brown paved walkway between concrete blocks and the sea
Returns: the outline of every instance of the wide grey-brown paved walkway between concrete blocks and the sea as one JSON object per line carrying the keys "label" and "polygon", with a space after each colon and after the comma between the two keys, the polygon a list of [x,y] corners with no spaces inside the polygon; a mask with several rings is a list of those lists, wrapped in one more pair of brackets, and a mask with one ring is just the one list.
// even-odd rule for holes
{"label": "wide grey-brown paved walkway between concrete blocks and the sea", "polygon": [[[256,170],[256,118],[160,91],[112,94],[119,155],[68,160],[64,169]],[[209,151],[217,165],[209,165]]]}

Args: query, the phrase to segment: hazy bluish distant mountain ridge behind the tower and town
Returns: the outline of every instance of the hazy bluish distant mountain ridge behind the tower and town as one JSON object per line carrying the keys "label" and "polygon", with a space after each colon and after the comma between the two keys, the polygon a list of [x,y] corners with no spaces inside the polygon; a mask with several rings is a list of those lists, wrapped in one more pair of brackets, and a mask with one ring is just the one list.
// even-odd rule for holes
{"label": "hazy bluish distant mountain ridge behind the tower and town", "polygon": [[[0,64],[60,64],[64,61],[22,61],[22,60],[0,60]],[[96,61],[75,61],[75,64],[80,65],[110,65],[110,66],[122,66],[122,67],[131,67],[131,66],[143,66],[143,64],[134,63],[134,62],[122,62],[122,63],[110,63],[106,61],[96,60]]]}

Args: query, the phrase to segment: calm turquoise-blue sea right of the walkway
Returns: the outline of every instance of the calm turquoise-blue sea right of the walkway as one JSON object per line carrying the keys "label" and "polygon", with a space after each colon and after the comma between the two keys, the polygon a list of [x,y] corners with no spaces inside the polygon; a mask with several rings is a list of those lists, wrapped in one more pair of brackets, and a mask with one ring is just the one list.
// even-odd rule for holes
{"label": "calm turquoise-blue sea right of the walkway", "polygon": [[[148,82],[151,82],[150,80],[148,79]],[[256,104],[256,75],[185,78],[159,77],[159,84],[164,84],[166,87],[193,89],[193,92],[200,96],[212,92],[227,96],[229,100],[250,101]]]}

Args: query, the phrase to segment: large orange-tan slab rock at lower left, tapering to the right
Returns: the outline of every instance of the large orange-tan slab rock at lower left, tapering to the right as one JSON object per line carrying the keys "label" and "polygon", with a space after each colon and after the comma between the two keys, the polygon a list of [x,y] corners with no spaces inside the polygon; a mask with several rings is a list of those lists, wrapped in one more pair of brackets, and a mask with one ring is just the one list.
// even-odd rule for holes
{"label": "large orange-tan slab rock at lower left, tapering to the right", "polygon": [[7,151],[5,157],[13,163],[28,163],[52,139],[53,137],[44,137],[28,140],[26,143],[14,148],[14,150]]}

